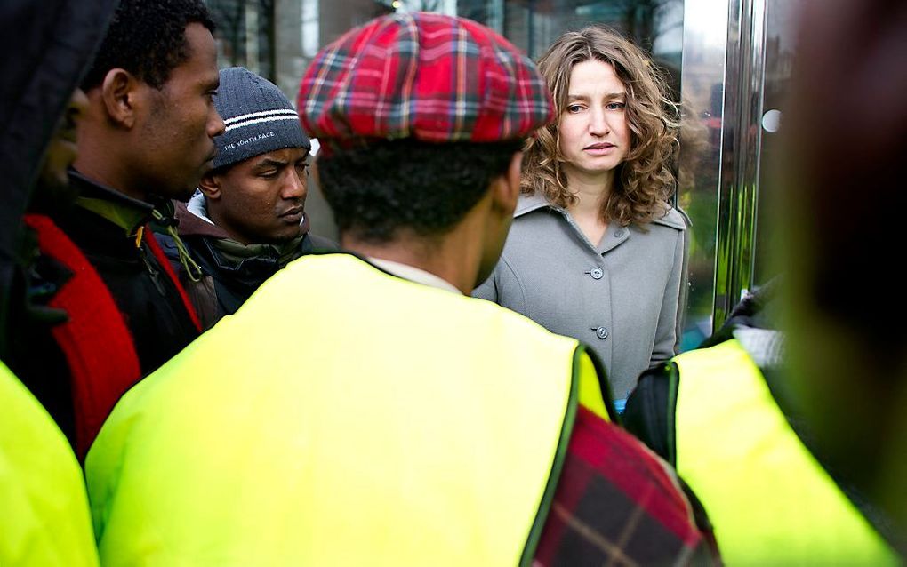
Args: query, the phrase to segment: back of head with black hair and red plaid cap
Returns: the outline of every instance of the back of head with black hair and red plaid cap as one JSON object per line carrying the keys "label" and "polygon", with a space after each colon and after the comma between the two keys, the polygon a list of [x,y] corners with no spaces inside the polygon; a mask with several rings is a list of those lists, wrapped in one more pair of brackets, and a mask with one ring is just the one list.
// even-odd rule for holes
{"label": "back of head with black hair and red plaid cap", "polygon": [[316,57],[297,102],[341,233],[444,234],[551,119],[532,62],[483,25],[395,14]]}

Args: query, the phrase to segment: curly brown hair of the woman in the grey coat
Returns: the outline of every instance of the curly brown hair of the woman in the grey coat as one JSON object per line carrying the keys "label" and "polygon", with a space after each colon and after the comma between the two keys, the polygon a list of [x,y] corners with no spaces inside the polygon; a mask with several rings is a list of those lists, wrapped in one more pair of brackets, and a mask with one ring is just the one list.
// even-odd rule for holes
{"label": "curly brown hair of the woman in the grey coat", "polygon": [[[567,107],[573,66],[589,60],[610,64],[627,90],[630,150],[618,166],[617,182],[601,214],[623,226],[645,224],[668,210],[675,190],[672,164],[678,149],[678,105],[668,98],[668,86],[639,47],[603,25],[567,32],[551,44],[538,61],[539,70],[554,96],[558,117]],[[526,143],[523,156],[523,193],[541,193],[551,203],[568,207],[577,200],[567,188],[558,147],[558,123],[542,127]]]}

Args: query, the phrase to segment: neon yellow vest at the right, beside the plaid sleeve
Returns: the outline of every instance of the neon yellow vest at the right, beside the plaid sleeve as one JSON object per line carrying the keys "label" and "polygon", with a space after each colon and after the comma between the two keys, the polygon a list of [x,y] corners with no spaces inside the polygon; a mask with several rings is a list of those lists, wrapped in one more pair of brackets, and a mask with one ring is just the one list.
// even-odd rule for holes
{"label": "neon yellow vest at the right, beside the plaid sleeve", "polygon": [[727,565],[898,564],[736,340],[675,361],[678,473],[705,505]]}

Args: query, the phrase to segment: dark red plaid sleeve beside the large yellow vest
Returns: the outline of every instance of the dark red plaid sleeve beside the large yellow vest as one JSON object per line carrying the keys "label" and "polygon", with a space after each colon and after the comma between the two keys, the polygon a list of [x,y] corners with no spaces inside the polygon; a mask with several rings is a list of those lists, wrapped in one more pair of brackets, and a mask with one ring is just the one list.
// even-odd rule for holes
{"label": "dark red plaid sleeve beside the large yellow vest", "polygon": [[533,566],[710,563],[667,464],[580,406]]}

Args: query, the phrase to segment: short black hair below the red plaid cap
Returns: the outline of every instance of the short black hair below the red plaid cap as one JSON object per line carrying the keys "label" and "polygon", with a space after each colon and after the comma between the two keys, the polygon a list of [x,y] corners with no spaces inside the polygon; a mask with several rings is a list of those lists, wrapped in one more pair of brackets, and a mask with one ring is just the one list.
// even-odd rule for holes
{"label": "short black hair below the red plaid cap", "polygon": [[337,228],[357,240],[385,243],[400,229],[441,236],[521,149],[522,140],[374,142],[319,157],[318,177]]}

